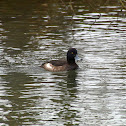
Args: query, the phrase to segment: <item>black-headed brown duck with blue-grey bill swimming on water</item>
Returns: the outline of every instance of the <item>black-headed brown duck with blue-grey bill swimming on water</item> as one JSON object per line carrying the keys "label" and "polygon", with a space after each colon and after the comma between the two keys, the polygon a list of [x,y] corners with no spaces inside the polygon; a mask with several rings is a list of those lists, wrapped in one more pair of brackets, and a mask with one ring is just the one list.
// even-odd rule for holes
{"label": "black-headed brown duck with blue-grey bill swimming on water", "polygon": [[77,55],[76,48],[69,48],[69,50],[67,51],[66,60],[51,60],[43,63],[41,67],[51,72],[76,70],[79,68],[79,66],[75,62],[78,59],[79,57]]}

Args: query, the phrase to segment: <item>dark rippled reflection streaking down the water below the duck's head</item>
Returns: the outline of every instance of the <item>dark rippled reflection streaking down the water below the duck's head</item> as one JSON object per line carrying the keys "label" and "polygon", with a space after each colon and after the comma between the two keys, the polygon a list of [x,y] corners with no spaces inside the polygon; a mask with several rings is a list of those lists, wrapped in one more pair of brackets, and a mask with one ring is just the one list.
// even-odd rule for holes
{"label": "dark rippled reflection streaking down the water below the duck's head", "polygon": [[[60,95],[60,110],[58,117],[64,122],[64,125],[78,125],[77,118],[79,111],[75,109],[77,100],[77,71],[68,71],[64,81],[60,82],[61,95]],[[55,101],[57,102],[57,100]],[[77,108],[77,107],[76,107]]]}

